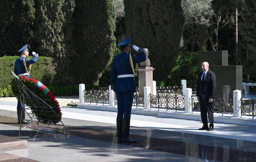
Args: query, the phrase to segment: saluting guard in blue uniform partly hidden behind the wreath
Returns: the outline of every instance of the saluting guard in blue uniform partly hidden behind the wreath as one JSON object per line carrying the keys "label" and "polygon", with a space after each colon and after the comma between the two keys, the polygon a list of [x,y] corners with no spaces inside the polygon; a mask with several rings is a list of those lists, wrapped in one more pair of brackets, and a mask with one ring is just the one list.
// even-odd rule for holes
{"label": "saluting guard in blue uniform partly hidden behind the wreath", "polygon": [[[14,64],[14,74],[15,75],[21,75],[26,76],[29,78],[29,73],[31,69],[31,64],[34,64],[37,60],[38,54],[35,52],[33,53],[33,58],[29,60],[28,57],[28,45],[23,46],[18,52],[20,53],[20,58],[15,61]],[[22,116],[21,116],[22,115]],[[22,109],[20,100],[18,99],[17,104],[17,116],[18,116],[18,123],[20,124],[20,116],[21,116],[21,123],[22,124],[28,124],[31,121],[25,119],[25,110]]]}

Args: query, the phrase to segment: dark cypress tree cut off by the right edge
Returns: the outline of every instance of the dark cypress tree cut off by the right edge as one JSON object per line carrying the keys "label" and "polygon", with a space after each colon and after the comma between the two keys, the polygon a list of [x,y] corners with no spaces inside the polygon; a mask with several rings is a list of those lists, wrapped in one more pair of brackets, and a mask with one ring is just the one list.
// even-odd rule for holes
{"label": "dark cypress tree cut off by the right edge", "polygon": [[239,58],[248,75],[256,78],[256,0],[244,0],[241,20],[238,23],[241,40],[239,42]]}

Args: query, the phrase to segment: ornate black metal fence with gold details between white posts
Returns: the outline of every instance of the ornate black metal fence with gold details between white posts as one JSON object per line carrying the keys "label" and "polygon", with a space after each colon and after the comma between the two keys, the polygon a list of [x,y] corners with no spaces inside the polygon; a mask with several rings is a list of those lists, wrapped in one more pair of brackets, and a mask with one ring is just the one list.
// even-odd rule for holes
{"label": "ornate black metal fence with gold details between white posts", "polygon": [[[194,88],[196,89],[196,88]],[[136,88],[136,93],[134,93],[132,106],[144,107],[144,95],[139,95],[139,90]],[[149,95],[150,109],[173,109],[173,110],[185,110],[185,104],[192,105],[192,111],[200,111],[200,102],[198,102],[197,97],[191,96],[191,103],[185,103],[185,97],[182,96],[182,85],[181,86],[168,86],[168,87],[157,87],[156,95]],[[241,99],[242,101],[242,99]],[[100,90],[89,90],[84,91],[84,102],[89,103],[101,103],[109,104],[109,91],[108,89]],[[242,101],[242,115],[255,116],[255,100],[243,100]],[[117,105],[117,100],[115,98],[115,106]],[[252,109],[253,108],[253,109]],[[222,98],[214,99],[213,101],[213,112],[223,114],[233,114],[233,101],[225,100]]]}

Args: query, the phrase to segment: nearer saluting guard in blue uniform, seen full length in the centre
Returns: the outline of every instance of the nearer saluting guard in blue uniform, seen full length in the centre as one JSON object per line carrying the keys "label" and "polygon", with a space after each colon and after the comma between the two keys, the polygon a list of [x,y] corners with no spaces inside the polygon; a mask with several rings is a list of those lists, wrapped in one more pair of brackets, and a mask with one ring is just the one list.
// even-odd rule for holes
{"label": "nearer saluting guard in blue uniform, seen full length in the centre", "polygon": [[[131,41],[131,38],[126,38],[117,45],[120,46],[122,53],[115,56],[110,72],[110,86],[117,98],[117,137],[118,142],[122,143],[137,142],[129,138],[133,94],[136,92],[135,76],[138,63],[147,59],[144,49],[132,46]],[[139,56],[131,54],[131,47]]]}

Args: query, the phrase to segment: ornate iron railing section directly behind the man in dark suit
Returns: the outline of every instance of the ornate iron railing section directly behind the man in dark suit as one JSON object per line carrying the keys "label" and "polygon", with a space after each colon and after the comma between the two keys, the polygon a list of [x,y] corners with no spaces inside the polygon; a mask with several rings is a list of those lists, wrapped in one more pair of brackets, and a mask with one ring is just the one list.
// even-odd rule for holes
{"label": "ornate iron railing section directly behind the man in dark suit", "polygon": [[[192,111],[200,111],[200,102],[197,100],[197,97],[191,96],[191,105]],[[223,97],[220,99],[214,99],[213,101],[213,112],[214,113],[222,113],[223,114],[233,114],[233,101],[225,100]]]}

